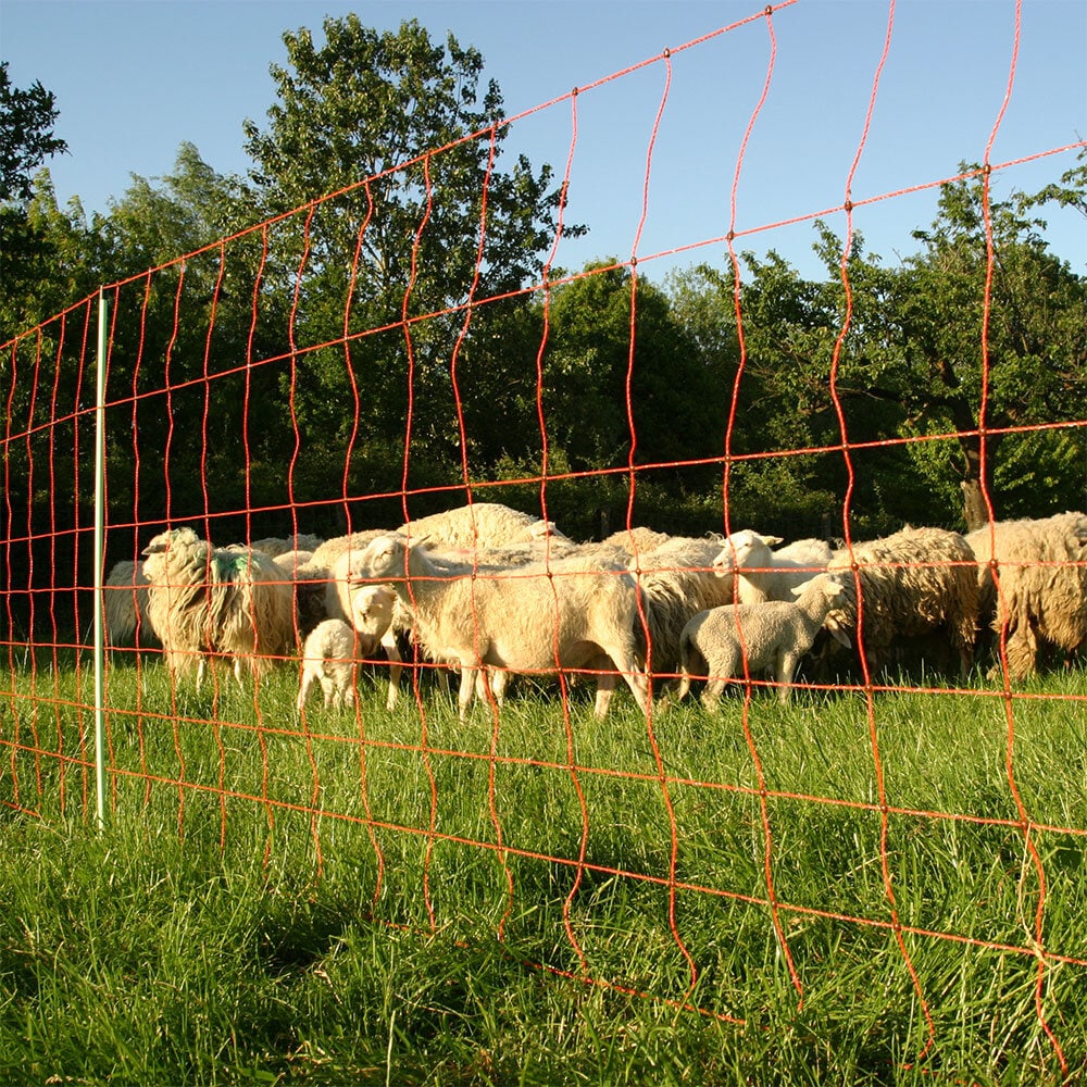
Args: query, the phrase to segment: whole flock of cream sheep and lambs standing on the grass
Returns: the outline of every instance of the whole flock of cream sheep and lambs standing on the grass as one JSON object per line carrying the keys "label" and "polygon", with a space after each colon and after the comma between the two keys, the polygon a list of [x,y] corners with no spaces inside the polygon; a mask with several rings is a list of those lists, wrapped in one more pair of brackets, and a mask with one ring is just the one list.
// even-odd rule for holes
{"label": "whole flock of cream sheep and lambs standing on the grass", "polygon": [[[297,661],[297,709],[320,687],[326,707],[354,701],[358,664],[383,652],[391,709],[405,647],[474,698],[500,707],[511,674],[596,678],[596,713],[619,678],[649,712],[650,677],[705,677],[716,705],[728,679],[769,673],[785,701],[804,657],[842,647],[870,673],[922,639],[964,675],[1003,647],[1009,675],[1034,672],[1046,647],[1087,642],[1087,515],[997,522],[967,536],[903,528],[832,549],[750,529],[674,537],[647,528],[600,542],[551,522],[473,503],[391,532],[213,547],[187,527],[155,536],[143,561],[118,562],[104,586],[111,646],[148,645],[179,674],[227,659],[240,680]],[[927,640],[925,640],[927,639]]]}

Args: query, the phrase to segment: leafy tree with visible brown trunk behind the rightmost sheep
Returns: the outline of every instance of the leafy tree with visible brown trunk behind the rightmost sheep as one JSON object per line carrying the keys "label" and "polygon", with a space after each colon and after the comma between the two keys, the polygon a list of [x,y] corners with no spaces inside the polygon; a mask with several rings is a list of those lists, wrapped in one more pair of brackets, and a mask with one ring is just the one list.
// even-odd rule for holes
{"label": "leafy tree with visible brown trunk behind the rightmost sheep", "polygon": [[[1069,185],[1061,190],[1064,199],[1087,200],[1085,180],[1080,173],[1078,198]],[[929,230],[915,233],[924,249],[897,277],[892,312],[903,343],[902,404],[915,426],[958,433],[967,528],[985,523],[986,492],[1002,516],[1063,509],[1083,498],[1082,430],[989,434],[984,457],[975,433],[983,422],[986,429],[1005,430],[1087,417],[1087,279],[1049,251],[1045,222],[1033,214],[1050,198],[1047,191],[1053,192],[1013,192],[989,203],[987,323],[979,179],[945,186],[939,217]]]}

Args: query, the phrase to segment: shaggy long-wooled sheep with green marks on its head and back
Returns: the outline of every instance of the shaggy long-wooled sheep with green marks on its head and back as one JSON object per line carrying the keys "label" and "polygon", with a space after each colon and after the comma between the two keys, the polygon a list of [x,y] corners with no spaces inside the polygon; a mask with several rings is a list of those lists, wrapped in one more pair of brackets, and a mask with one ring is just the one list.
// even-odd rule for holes
{"label": "shaggy long-wooled sheep with green marks on its head and back", "polygon": [[213,548],[188,527],[155,536],[143,549],[148,620],[175,675],[197,663],[199,687],[213,653],[254,675],[293,646],[295,616],[283,571],[263,552]]}

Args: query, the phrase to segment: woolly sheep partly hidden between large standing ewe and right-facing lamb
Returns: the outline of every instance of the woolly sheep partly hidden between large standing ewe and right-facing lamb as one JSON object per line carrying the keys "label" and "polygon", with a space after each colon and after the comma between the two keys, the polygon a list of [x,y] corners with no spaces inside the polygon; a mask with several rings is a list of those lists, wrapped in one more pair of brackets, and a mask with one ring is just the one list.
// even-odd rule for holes
{"label": "woolly sheep partly hidden between large standing ewe and right-facing lamb", "polygon": [[720,537],[670,537],[660,547],[629,560],[641,590],[648,630],[648,660],[653,675],[674,674],[679,664],[679,636],[687,621],[701,611],[733,602],[733,576],[713,569],[721,553]]}

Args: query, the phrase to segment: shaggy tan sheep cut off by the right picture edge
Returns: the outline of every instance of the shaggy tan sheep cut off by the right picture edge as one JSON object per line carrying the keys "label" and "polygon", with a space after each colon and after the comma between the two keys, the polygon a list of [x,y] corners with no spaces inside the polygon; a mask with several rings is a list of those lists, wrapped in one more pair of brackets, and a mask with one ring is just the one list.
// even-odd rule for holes
{"label": "shaggy tan sheep cut off by the right picture edge", "polygon": [[998,637],[1007,627],[1012,679],[1037,670],[1045,644],[1072,653],[1087,640],[1087,514],[996,522],[966,542],[977,559],[982,614]]}

